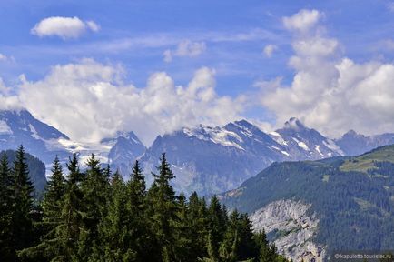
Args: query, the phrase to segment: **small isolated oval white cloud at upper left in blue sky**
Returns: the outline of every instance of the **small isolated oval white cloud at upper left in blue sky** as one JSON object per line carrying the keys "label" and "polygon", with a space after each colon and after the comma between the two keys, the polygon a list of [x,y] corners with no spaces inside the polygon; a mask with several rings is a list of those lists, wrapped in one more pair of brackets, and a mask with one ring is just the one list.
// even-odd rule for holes
{"label": "small isolated oval white cloud at upper left in blue sky", "polygon": [[34,25],[30,31],[33,35],[59,36],[62,39],[75,39],[84,35],[87,31],[97,32],[100,26],[94,21],[83,21],[78,17],[47,17]]}

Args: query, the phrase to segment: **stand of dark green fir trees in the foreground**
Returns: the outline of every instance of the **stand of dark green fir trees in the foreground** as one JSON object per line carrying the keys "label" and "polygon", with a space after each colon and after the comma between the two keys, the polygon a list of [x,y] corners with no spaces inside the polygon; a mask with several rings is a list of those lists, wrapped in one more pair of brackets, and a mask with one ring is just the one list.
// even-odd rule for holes
{"label": "stand of dark green fir trees in the foreground", "polygon": [[[7,174],[14,173],[5,160],[0,163],[1,181],[12,181],[14,176]],[[15,174],[26,175],[21,163],[15,163]],[[148,191],[138,162],[127,183],[118,172],[111,176],[109,167],[101,169],[94,156],[86,166],[81,173],[74,155],[64,178],[54,160],[40,203],[42,216],[35,223],[39,241],[18,252],[2,248],[2,258],[10,252],[20,261],[286,261],[269,247],[264,234],[251,232],[246,214],[233,211],[228,216],[217,196],[207,207],[196,193],[189,199],[176,195],[165,155]],[[1,222],[14,226],[12,220]]]}

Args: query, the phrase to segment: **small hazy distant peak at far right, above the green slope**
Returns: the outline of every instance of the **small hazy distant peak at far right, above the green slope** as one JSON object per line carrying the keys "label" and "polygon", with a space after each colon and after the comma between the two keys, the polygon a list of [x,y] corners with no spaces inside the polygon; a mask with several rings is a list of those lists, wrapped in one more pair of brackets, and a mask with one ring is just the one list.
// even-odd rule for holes
{"label": "small hazy distant peak at far right, above the green slope", "polygon": [[394,134],[364,136],[357,134],[354,130],[350,130],[339,139],[336,139],[335,143],[340,146],[340,149],[346,156],[357,156],[379,146],[394,144]]}

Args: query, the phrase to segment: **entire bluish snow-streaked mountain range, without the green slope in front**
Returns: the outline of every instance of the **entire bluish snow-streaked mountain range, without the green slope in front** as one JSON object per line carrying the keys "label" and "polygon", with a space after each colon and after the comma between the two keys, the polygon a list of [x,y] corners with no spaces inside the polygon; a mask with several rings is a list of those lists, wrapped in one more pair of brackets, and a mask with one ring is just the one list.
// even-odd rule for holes
{"label": "entire bluish snow-streaked mountain range, without the green slope in front", "polygon": [[56,155],[65,163],[75,152],[84,163],[94,153],[125,178],[139,159],[148,184],[165,152],[176,176],[173,186],[186,194],[211,195],[236,188],[273,162],[357,155],[391,143],[394,134],[363,136],[354,131],[333,140],[291,118],[271,133],[241,120],[225,126],[184,127],[157,136],[149,148],[133,132],[118,132],[100,143],[86,144],[73,141],[26,110],[0,112],[0,150],[23,144],[27,152],[44,161],[47,170]]}

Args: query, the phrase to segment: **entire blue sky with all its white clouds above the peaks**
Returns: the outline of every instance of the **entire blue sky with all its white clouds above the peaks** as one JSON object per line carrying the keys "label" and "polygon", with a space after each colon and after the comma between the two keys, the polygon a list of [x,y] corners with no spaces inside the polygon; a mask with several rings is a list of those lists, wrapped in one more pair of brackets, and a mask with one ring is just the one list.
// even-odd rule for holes
{"label": "entire blue sky with all its white clouds above the peaks", "polygon": [[394,132],[394,1],[0,1],[0,109],[72,139],[291,116]]}

